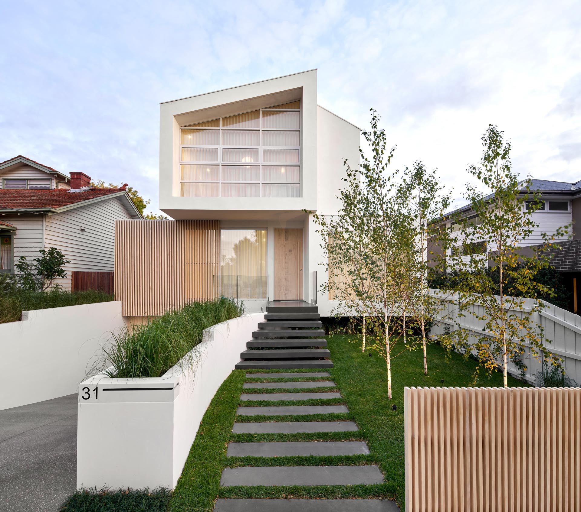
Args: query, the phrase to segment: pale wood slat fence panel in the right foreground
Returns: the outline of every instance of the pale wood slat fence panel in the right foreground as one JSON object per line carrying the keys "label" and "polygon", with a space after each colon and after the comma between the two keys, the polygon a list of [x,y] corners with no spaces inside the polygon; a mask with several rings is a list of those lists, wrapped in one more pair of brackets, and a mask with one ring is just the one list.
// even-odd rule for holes
{"label": "pale wood slat fence panel in the right foreground", "polygon": [[405,388],[406,511],[581,510],[581,388]]}

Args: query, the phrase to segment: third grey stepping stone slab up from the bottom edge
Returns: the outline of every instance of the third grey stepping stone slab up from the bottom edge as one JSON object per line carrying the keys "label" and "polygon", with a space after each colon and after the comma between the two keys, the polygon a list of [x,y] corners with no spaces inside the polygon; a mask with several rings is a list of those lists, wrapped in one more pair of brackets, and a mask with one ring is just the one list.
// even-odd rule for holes
{"label": "third grey stepping stone slab up from the bottom edge", "polygon": [[363,441],[310,441],[230,443],[228,457],[308,457],[336,455],[369,455]]}

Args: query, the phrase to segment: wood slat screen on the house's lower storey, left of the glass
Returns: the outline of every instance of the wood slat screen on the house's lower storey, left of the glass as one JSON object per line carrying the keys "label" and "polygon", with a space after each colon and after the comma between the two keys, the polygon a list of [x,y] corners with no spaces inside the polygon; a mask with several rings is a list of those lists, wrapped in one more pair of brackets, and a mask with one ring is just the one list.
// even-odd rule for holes
{"label": "wood slat screen on the house's lower storey, left of the glass", "polygon": [[115,294],[123,316],[163,315],[212,298],[219,221],[115,222]]}

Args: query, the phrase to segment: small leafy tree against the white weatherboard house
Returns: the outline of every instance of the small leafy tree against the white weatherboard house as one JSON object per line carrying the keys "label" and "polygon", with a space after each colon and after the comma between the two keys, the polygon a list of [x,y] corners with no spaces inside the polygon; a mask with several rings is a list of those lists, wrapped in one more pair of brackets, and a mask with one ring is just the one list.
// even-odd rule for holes
{"label": "small leafy tree against the white weatherboard house", "polygon": [[41,249],[38,252],[41,257],[35,258],[34,263],[21,256],[16,264],[16,270],[19,272],[17,279],[24,290],[45,291],[52,286],[57,277],[67,276],[63,265],[70,261],[64,258],[63,253],[55,247]]}

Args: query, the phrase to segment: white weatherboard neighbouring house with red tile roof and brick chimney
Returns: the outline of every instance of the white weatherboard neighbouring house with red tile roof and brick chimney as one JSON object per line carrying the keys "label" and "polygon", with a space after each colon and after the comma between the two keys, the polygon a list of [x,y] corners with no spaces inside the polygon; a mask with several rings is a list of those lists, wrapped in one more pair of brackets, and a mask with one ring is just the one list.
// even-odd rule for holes
{"label": "white weatherboard neighbouring house with red tile roof and brick chimney", "polygon": [[113,271],[117,219],[141,219],[120,189],[92,189],[83,172],[62,174],[23,156],[0,164],[0,272],[15,272],[21,256],[29,261],[40,249],[56,247],[71,271]]}

